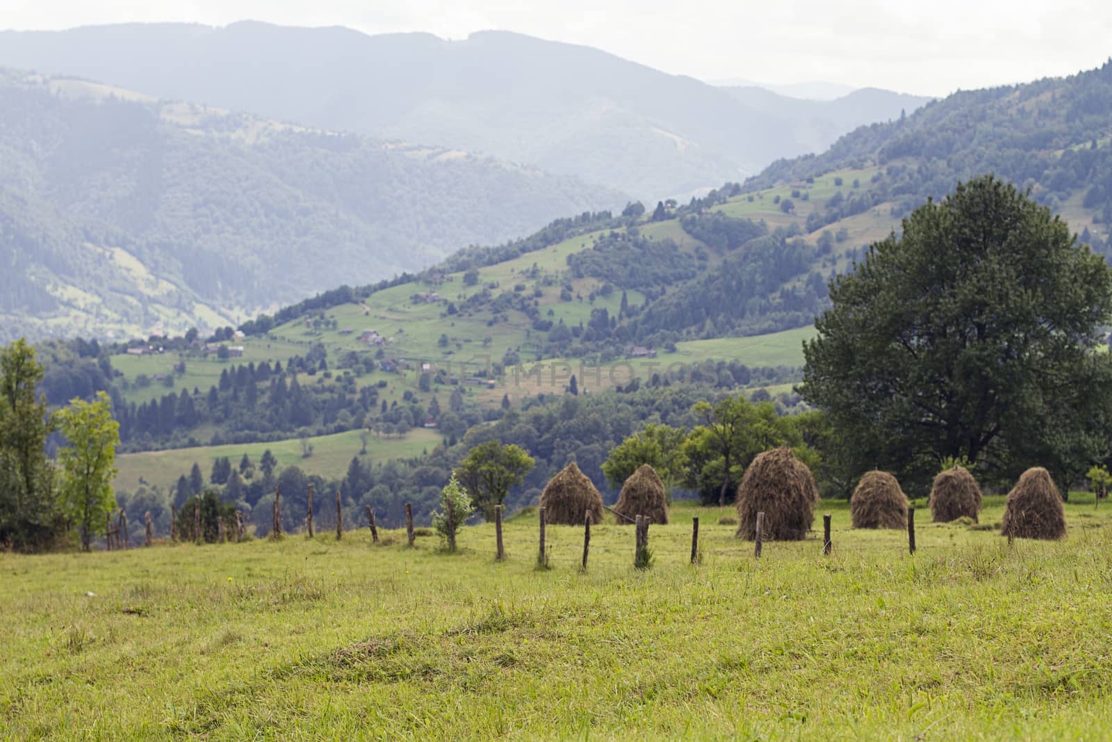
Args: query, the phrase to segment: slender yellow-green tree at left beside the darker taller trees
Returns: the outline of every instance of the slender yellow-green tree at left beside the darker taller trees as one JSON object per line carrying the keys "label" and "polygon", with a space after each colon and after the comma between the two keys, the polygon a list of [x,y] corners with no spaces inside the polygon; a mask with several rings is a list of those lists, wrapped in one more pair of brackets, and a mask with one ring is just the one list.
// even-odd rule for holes
{"label": "slender yellow-green tree at left beside the darker taller trees", "polygon": [[116,506],[112,479],[120,425],[112,419],[103,392],[98,392],[93,402],[73,399],[58,417],[68,443],[58,452],[62,511],[81,532],[81,547],[89,551],[92,535],[103,528],[105,516]]}

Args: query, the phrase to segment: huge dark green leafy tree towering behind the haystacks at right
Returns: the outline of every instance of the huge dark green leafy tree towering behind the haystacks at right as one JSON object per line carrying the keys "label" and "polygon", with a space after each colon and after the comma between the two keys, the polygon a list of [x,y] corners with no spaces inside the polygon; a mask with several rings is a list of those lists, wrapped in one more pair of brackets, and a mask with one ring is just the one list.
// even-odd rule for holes
{"label": "huge dark green leafy tree towering behind the haystacks at right", "polygon": [[1112,276],[1066,225],[991,176],[959,185],[831,286],[801,393],[861,467],[947,457],[1060,478],[1106,454]]}

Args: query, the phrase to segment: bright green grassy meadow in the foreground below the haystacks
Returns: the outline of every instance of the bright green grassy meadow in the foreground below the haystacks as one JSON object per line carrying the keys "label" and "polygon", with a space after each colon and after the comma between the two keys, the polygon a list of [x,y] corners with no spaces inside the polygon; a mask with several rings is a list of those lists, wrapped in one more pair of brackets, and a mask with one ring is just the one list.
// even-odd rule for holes
{"label": "bright green grassy meadow in the foreground below the haystacks", "polygon": [[[0,736],[1096,740],[1112,735],[1112,508],[1061,543],[982,526],[752,544],[715,508],[651,532],[536,518],[461,552],[367,532],[0,554]],[[691,516],[703,562],[687,564]],[[821,523],[821,522],[820,522]]]}

